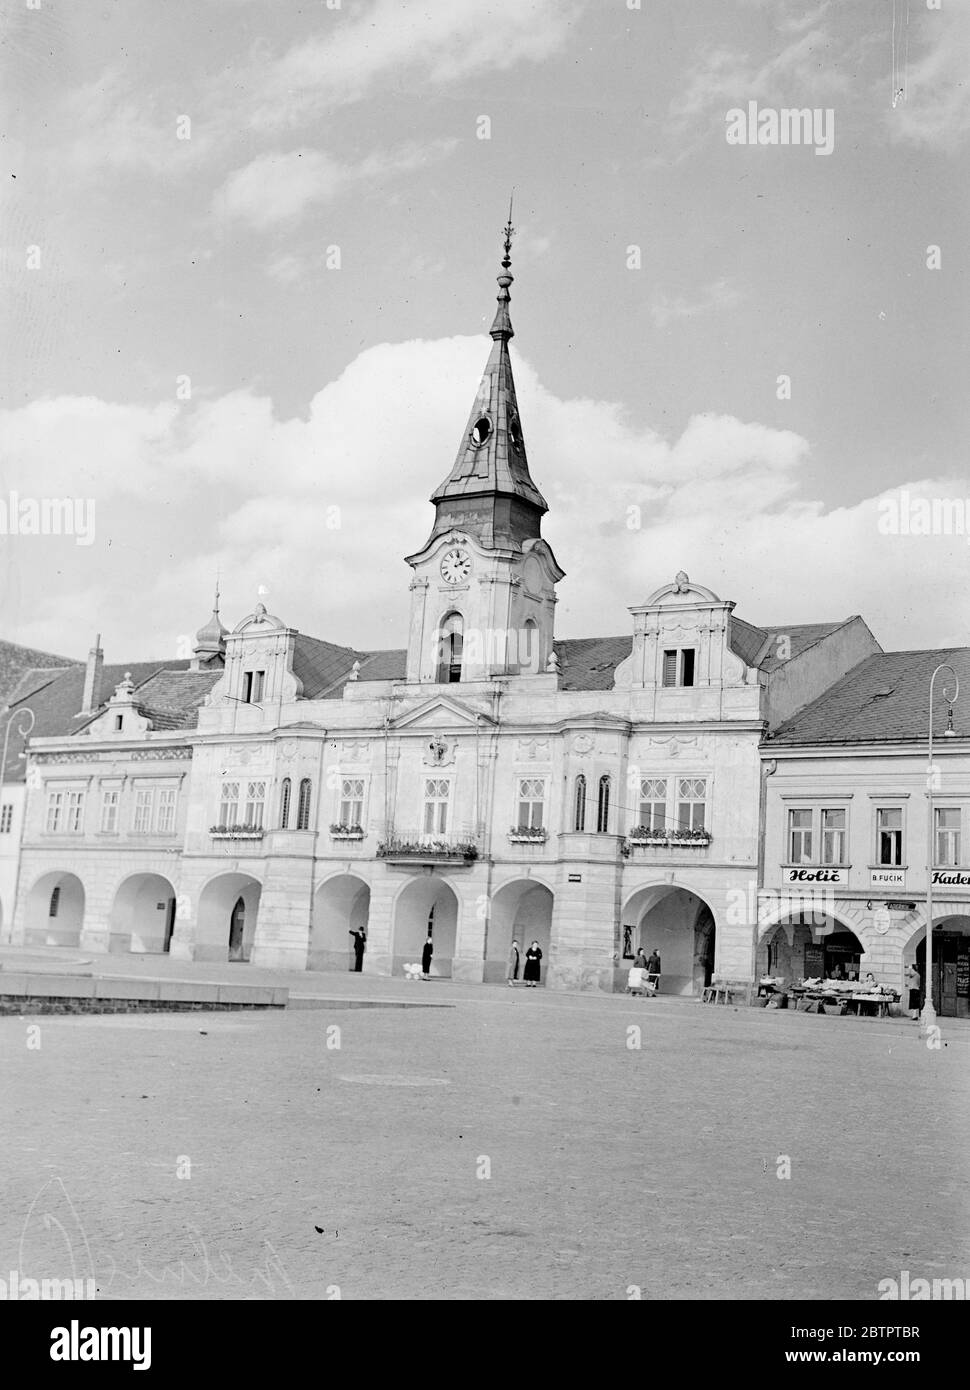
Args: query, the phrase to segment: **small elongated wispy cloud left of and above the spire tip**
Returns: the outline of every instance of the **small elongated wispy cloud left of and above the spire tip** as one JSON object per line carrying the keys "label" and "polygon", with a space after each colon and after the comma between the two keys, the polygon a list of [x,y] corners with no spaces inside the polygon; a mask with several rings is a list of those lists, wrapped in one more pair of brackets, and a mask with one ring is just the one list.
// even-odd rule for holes
{"label": "small elongated wispy cloud left of and above the spire tip", "polygon": [[340,164],[324,150],[307,147],[260,154],[228,177],[213,199],[213,211],[265,231],[278,222],[297,221],[310,207],[331,202],[352,185],[382,183],[424,168],[450,154],[456,143],[442,139],[404,145],[371,153],[357,164]]}

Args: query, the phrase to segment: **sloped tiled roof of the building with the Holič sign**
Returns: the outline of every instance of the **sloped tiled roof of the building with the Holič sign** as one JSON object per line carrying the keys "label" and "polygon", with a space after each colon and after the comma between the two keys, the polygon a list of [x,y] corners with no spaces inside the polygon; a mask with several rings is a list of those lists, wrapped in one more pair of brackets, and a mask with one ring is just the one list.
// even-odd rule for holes
{"label": "sloped tiled roof of the building with the Holi\u010d sign", "polygon": [[[970,738],[970,648],[921,652],[878,652],[855,666],[812,705],[781,724],[764,742],[878,744],[926,741],[930,733],[930,678],[949,662],[960,678],[953,730]],[[946,727],[944,677],[937,678],[934,735]]]}

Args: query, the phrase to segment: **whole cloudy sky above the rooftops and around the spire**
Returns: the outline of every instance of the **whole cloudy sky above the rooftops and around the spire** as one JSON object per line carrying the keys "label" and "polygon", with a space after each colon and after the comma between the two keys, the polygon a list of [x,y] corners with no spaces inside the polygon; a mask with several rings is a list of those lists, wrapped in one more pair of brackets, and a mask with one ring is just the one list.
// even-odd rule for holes
{"label": "whole cloudy sky above the rooftops and around the spire", "polygon": [[970,642],[970,0],[0,14],[0,638],[186,656],[218,575],[229,627],[406,645],[514,189],[559,637],[685,570]]}

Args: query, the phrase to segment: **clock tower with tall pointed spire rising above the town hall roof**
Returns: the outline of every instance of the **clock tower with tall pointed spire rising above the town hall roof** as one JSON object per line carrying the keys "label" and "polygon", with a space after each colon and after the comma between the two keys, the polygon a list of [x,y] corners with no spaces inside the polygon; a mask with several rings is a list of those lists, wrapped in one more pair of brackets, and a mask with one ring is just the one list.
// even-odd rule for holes
{"label": "clock tower with tall pointed spire rising above the town hall roof", "polygon": [[435,524],[407,556],[407,680],[481,681],[554,671],[556,584],[564,571],[542,539],[546,502],[532,482],[509,341],[511,221],[498,277],[492,352],[454,467],[432,493]]}

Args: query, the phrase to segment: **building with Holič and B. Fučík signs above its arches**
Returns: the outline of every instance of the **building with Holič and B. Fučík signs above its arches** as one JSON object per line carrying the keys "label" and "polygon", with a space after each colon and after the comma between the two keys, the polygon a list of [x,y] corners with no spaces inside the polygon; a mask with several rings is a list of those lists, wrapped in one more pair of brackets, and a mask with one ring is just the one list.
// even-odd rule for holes
{"label": "building with Holi\u010d and B. Fu\u010d\u00edk signs above its arches", "polygon": [[[932,767],[930,680],[937,681]],[[932,874],[937,1012],[970,1015],[970,648],[878,652],[764,739],[763,973],[837,965],[902,991],[926,981]],[[932,828],[928,787],[932,790]]]}

